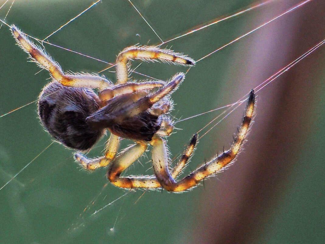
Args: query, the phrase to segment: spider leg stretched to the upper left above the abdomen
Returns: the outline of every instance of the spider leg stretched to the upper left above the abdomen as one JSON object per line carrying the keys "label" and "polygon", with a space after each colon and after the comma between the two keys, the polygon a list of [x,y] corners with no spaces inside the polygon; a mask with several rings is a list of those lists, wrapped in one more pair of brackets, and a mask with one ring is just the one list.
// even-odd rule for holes
{"label": "spider leg stretched to the upper left above the abdomen", "polygon": [[15,37],[18,45],[29,54],[32,61],[38,66],[50,72],[53,79],[64,86],[84,87],[84,88],[107,88],[112,83],[99,75],[92,74],[64,74],[60,65],[55,62],[42,48],[38,47],[27,36],[22,33],[15,25],[10,27],[12,35]]}

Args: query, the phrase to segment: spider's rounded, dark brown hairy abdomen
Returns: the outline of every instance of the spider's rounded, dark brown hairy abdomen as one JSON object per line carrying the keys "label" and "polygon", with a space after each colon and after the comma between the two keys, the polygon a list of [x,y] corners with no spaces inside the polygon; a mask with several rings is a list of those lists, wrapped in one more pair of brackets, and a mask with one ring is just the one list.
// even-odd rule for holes
{"label": "spider's rounded, dark brown hairy abdomen", "polygon": [[73,88],[53,81],[39,96],[38,115],[45,129],[67,147],[88,150],[103,135],[86,118],[99,108],[99,98],[88,88]]}

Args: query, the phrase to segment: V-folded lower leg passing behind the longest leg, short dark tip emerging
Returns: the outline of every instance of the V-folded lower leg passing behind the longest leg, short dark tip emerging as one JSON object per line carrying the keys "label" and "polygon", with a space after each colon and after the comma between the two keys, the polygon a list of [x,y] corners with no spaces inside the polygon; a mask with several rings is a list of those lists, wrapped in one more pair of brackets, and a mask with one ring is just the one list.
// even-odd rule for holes
{"label": "V-folded lower leg passing behind the longest leg, short dark tip emerging", "polygon": [[[175,177],[181,172],[186,165],[190,155],[192,154],[196,144],[196,134],[193,136],[188,148],[185,150],[179,163],[173,170]],[[154,175],[147,176],[127,176],[121,177],[121,173],[130,167],[147,149],[147,144],[137,142],[136,144],[126,148],[109,166],[107,178],[111,183],[122,188],[161,188],[161,184]],[[186,156],[184,156],[186,155]]]}

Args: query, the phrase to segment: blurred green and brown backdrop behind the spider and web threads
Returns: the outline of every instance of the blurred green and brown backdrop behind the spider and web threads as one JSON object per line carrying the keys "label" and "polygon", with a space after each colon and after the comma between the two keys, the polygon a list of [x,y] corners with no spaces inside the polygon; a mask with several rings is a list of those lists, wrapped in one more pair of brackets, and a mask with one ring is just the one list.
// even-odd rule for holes
{"label": "blurred green and brown backdrop behind the spider and web threads", "polygon": [[[5,1],[0,1],[4,3]],[[0,10],[4,18],[9,1]],[[133,1],[166,41],[257,1]],[[299,1],[273,1],[167,44],[195,60],[285,12]],[[43,39],[91,1],[16,0],[7,23]],[[2,5],[2,4],[1,4]],[[200,61],[173,94],[176,118],[236,102],[324,39],[325,4],[313,0]],[[0,29],[0,114],[37,99],[48,82]],[[160,40],[128,1],[103,0],[49,38],[51,43],[114,62],[124,47]],[[64,70],[98,72],[107,64],[45,45]],[[257,113],[234,165],[182,194],[126,192],[107,183],[105,169],[80,169],[72,150],[42,129],[32,103],[0,118],[0,242],[7,243],[323,243],[325,239],[324,47],[257,93]],[[134,62],[133,67],[139,62]],[[144,63],[137,71],[169,79],[186,68]],[[37,73],[37,74],[36,74]],[[36,74],[36,75],[35,75]],[[115,80],[114,73],[103,73]],[[134,74],[136,79],[143,76]],[[186,173],[229,147],[241,106],[205,135]],[[168,139],[178,156],[191,135],[220,111],[176,124]],[[219,120],[216,120],[216,122]],[[206,130],[205,130],[206,131]],[[202,133],[201,133],[202,134]],[[89,156],[98,156],[101,140]],[[130,144],[124,140],[123,146]],[[150,154],[127,173],[151,173]],[[147,172],[145,172],[149,169]],[[141,195],[143,196],[141,197]],[[139,198],[140,197],[140,198]],[[93,201],[94,199],[94,201]],[[85,210],[85,211],[84,211]],[[111,230],[112,229],[112,230]]]}

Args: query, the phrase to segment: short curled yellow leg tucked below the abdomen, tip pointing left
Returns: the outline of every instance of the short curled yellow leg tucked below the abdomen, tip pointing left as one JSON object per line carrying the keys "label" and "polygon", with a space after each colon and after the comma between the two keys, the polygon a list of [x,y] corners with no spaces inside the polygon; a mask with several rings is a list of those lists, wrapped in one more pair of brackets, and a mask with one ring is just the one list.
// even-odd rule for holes
{"label": "short curled yellow leg tucked below the abdomen, tip pointing left", "polygon": [[88,159],[81,153],[75,153],[75,160],[78,161],[85,169],[94,170],[99,167],[105,167],[114,159],[119,146],[121,138],[111,134],[107,142],[105,155],[99,158]]}

